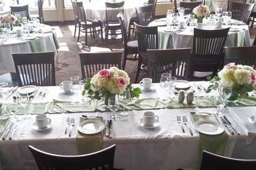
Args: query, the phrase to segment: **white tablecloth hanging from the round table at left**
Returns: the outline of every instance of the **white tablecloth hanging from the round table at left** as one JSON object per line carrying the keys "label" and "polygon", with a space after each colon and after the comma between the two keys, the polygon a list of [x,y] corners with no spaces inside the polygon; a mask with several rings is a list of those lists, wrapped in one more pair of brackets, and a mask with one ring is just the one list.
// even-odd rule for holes
{"label": "white tablecloth hanging from the round table at left", "polygon": [[[27,35],[24,34],[23,36]],[[34,33],[31,36],[36,36],[36,45],[41,49],[40,52],[55,52],[55,56],[57,56],[57,49],[51,32]],[[34,40],[25,40],[23,37],[17,38],[16,34],[10,34],[8,40],[0,45],[0,63],[8,72],[15,72],[12,53],[34,52],[29,41],[33,43]]]}

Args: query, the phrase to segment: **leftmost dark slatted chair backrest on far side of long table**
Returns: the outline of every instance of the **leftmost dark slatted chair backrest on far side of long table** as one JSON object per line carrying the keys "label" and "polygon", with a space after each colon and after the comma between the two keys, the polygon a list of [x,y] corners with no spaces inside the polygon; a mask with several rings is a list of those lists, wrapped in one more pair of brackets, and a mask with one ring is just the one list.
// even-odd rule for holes
{"label": "leftmost dark slatted chair backrest on far side of long table", "polygon": [[55,86],[55,52],[13,54],[20,86]]}

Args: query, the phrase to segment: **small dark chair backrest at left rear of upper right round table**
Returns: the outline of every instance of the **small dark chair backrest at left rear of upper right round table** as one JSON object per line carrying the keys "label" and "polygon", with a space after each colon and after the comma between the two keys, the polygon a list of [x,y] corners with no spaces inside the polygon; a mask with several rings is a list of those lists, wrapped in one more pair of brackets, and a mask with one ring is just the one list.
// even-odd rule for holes
{"label": "small dark chair backrest at left rear of upper right round table", "polygon": [[136,8],[138,24],[148,26],[155,19],[154,5],[141,6]]}

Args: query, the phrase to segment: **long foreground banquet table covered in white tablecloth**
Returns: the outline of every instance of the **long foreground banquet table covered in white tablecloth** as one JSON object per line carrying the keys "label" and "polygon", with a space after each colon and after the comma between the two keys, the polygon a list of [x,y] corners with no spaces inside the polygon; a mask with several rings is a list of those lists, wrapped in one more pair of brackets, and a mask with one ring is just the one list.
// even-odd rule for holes
{"label": "long foreground banquet table covered in white tablecloth", "polygon": [[[192,83],[195,89],[195,96],[211,96],[216,91],[205,93],[199,91],[196,86],[208,86],[208,82]],[[197,84],[197,85],[195,85]],[[138,84],[134,84],[138,86]],[[80,88],[76,88],[80,89]],[[38,91],[45,91],[46,95],[35,95],[32,103],[47,103],[55,100],[72,101],[80,98],[80,90],[71,94],[62,93],[59,86],[41,87]],[[153,84],[151,91],[143,91],[140,99],[146,98],[166,98],[166,91],[160,88],[159,84]],[[174,99],[175,100],[175,99]],[[177,99],[176,99],[177,100]],[[84,103],[83,105],[88,105]],[[256,116],[256,107],[229,107],[230,111],[226,114],[241,135],[228,134],[227,149],[225,156],[256,159],[256,125],[248,121],[249,116]],[[48,131],[37,132],[31,128],[34,123],[36,114],[18,124],[17,131],[13,136],[13,140],[0,140],[0,158],[1,167],[4,169],[37,169],[34,158],[29,152],[27,146],[32,145],[36,148],[50,153],[63,155],[76,155],[76,135],[78,134],[78,122],[81,114],[87,116],[102,116],[106,121],[109,111],[93,111],[64,113],[61,109],[56,109],[55,114],[47,114],[52,120],[52,127]],[[113,137],[109,139],[104,137],[103,147],[116,144],[115,162],[116,168],[122,169],[196,169],[200,162],[200,138],[199,133],[194,130],[193,121],[190,118],[190,111],[207,111],[215,113],[214,107],[187,107],[177,109],[150,109],[159,116],[159,126],[154,129],[146,129],[138,124],[145,110],[129,111],[129,118],[113,121]],[[66,117],[75,118],[74,130],[71,137],[64,134],[66,127]],[[185,133],[180,129],[180,125],[176,122],[176,116],[187,116],[192,127],[194,136],[185,128]],[[22,118],[22,116],[18,116]]]}

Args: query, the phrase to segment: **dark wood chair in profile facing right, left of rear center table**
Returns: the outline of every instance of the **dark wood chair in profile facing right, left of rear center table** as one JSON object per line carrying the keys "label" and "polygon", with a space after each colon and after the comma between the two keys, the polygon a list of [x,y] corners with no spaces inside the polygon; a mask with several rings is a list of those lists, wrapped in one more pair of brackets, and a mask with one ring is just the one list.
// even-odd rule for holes
{"label": "dark wood chair in profile facing right, left of rear center table", "polygon": [[[83,8],[83,2],[77,1],[75,8],[78,11],[78,20],[79,20],[79,27],[78,27],[78,41],[80,38],[80,32],[85,33],[85,45],[87,45],[87,36],[88,31],[91,33],[91,36],[93,35],[93,38],[95,38],[95,33],[100,32],[101,33],[101,40],[103,42],[103,31],[102,31],[102,22],[98,20],[87,20],[86,14],[85,14],[85,8]],[[83,28],[81,30],[81,27]]]}

